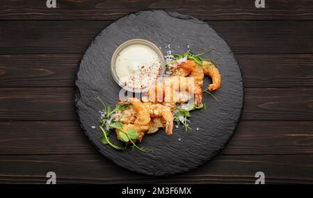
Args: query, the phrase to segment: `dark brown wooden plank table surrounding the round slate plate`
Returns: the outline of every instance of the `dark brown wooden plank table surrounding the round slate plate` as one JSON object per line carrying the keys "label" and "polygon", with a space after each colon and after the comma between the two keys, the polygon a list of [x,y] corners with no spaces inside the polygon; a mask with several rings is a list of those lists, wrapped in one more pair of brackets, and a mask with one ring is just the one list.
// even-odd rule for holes
{"label": "dark brown wooden plank table surrounding the round slate plate", "polygon": [[[0,1],[0,183],[313,183],[313,3]],[[239,128],[214,160],[168,178],[99,155],[74,112],[74,74],[89,42],[136,10],[207,21],[230,44],[245,81]]]}

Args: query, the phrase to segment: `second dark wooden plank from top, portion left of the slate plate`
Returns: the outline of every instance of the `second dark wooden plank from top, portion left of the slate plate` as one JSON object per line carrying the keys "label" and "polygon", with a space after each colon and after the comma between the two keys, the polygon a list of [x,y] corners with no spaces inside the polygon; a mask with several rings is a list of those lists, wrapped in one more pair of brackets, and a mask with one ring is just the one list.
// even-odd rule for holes
{"label": "second dark wooden plank from top, portion left of the slate plate", "polygon": [[0,22],[0,53],[83,53],[110,23]]}

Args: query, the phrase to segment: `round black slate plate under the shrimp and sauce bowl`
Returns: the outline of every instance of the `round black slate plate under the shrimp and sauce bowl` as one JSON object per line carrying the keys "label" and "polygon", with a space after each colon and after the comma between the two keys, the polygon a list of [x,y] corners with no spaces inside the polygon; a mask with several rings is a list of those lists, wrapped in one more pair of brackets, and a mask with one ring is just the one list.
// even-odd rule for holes
{"label": "round black slate plate under the shrimp and sauce bowl", "polygon": [[[154,42],[164,54],[168,51],[168,44],[174,53],[183,53],[189,45],[195,53],[203,52],[214,60],[223,76],[222,87],[214,92],[218,101],[204,94],[207,110],[192,112],[193,131],[185,132],[180,127],[174,129],[170,136],[163,130],[145,135],[140,146],[153,149],[147,153],[130,148],[117,151],[102,145],[99,140],[102,134],[98,127],[99,110],[102,105],[95,97],[99,96],[106,104],[115,106],[120,87],[111,76],[111,56],[122,42],[134,38]],[[179,13],[143,11],[113,22],[90,44],[77,72],[75,105],[83,131],[106,158],[141,174],[171,175],[194,170],[225,147],[241,116],[243,80],[230,47],[207,23]],[[96,126],[96,129],[91,126]],[[110,138],[118,144],[114,133]]]}

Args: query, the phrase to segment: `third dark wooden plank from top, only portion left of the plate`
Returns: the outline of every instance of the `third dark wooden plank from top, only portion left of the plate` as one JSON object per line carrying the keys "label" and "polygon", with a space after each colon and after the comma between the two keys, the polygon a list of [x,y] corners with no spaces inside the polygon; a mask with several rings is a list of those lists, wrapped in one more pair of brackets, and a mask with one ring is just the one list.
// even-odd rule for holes
{"label": "third dark wooden plank from top, only portion left of the plate", "polygon": [[0,55],[0,87],[73,87],[80,54]]}

